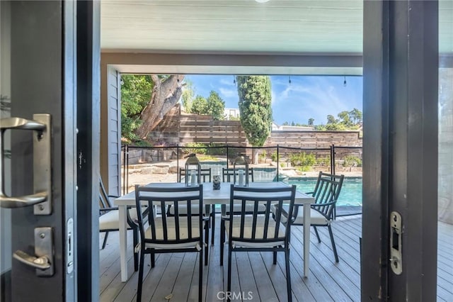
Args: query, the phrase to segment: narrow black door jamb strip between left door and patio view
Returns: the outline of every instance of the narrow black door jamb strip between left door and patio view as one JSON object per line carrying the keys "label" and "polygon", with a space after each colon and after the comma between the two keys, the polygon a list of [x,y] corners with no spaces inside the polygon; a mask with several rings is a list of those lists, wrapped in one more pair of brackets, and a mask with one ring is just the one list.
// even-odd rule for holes
{"label": "narrow black door jamb strip between left door and patio view", "polygon": [[77,1],[77,286],[79,301],[99,299],[101,1]]}

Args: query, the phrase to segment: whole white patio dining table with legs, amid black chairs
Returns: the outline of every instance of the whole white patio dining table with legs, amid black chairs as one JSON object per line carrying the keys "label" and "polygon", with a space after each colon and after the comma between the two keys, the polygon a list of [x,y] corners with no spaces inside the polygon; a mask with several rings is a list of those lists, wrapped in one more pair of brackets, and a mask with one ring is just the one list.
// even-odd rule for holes
{"label": "whole white patio dining table with legs, amid black chairs", "polygon": [[[219,190],[212,188],[212,183],[203,184],[203,204],[211,206],[212,204],[227,204],[230,198],[231,183],[223,182]],[[152,183],[147,186],[155,187],[181,187],[181,183]],[[253,182],[250,187],[272,187],[288,186],[282,182]],[[309,205],[314,203],[314,198],[302,192],[296,191],[294,204]],[[121,281],[125,282],[129,278],[127,273],[127,206],[135,206],[135,192],[132,191],[124,196],[115,199],[115,205],[118,206],[120,214],[120,266]],[[310,255],[310,207],[304,206],[304,276],[309,275],[309,255]]]}

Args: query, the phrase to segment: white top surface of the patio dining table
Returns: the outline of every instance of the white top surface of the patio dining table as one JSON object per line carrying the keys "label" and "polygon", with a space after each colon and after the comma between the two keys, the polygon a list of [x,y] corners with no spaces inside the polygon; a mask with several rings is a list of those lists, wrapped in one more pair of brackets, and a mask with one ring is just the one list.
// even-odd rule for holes
{"label": "white top surface of the patio dining table", "polygon": [[[185,184],[178,183],[178,182],[157,182],[152,184],[147,184],[149,187],[157,187],[157,188],[181,188],[184,187]],[[223,182],[220,185],[219,190],[212,189],[212,183],[205,183],[203,184],[203,203],[205,204],[226,204],[229,203],[229,194],[230,194],[230,186],[231,183]],[[251,188],[272,188],[272,187],[282,187],[288,186],[288,184],[282,182],[253,182],[249,184]],[[296,196],[294,198],[294,203],[296,204],[307,204],[307,203],[314,203],[313,196],[309,196],[307,194],[301,193],[296,191]],[[132,191],[120,198],[115,199],[116,206],[134,206],[135,205],[135,191]]]}

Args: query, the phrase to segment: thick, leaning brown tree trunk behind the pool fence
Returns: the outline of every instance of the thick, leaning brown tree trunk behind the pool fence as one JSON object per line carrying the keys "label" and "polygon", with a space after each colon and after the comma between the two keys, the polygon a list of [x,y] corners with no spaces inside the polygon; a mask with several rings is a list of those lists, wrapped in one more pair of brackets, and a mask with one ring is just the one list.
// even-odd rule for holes
{"label": "thick, leaning brown tree trunk behind the pool fence", "polygon": [[151,93],[151,100],[140,115],[142,125],[136,130],[139,138],[146,140],[151,130],[176,105],[181,94],[183,94],[184,77],[184,74],[176,74],[161,81],[157,74],[151,74],[154,87]]}

